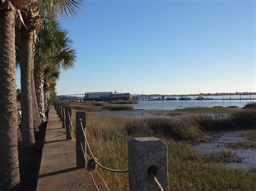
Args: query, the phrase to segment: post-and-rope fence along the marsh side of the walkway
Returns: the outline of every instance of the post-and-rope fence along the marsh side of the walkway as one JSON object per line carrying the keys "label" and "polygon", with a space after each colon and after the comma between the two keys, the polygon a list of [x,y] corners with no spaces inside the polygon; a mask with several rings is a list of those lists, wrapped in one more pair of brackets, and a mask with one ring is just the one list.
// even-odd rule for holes
{"label": "post-and-rope fence along the marsh side of the walkway", "polygon": [[[72,110],[66,104],[55,102],[54,107],[66,129],[66,139],[72,139],[76,145],[76,164],[78,168],[89,171],[92,176],[96,167],[112,173],[129,173],[130,190],[168,190],[167,145],[154,137],[132,138],[128,142],[127,169],[111,169],[103,166],[93,155],[86,137],[86,113],[76,112],[76,126],[72,125]],[[91,158],[88,157],[87,151]],[[88,160],[89,159],[89,160]]]}

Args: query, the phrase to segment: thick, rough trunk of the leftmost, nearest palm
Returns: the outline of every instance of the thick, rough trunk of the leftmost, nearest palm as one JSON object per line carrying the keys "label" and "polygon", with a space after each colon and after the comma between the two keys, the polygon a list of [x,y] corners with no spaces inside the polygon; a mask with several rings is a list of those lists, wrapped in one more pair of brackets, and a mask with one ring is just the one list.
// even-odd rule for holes
{"label": "thick, rough trunk of the leftmost, nearest palm", "polygon": [[0,190],[19,183],[14,19],[0,9]]}

